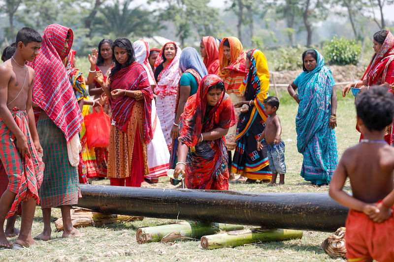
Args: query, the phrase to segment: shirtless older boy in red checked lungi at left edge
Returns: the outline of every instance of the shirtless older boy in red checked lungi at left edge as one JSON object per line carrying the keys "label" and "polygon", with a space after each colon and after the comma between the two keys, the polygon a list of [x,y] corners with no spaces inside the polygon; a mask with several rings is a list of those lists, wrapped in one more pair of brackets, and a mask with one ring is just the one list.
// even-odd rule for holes
{"label": "shirtless older boy in red checked lungi at left edge", "polygon": [[32,109],[34,70],[25,63],[37,56],[41,42],[34,29],[19,30],[14,56],[0,65],[0,159],[9,180],[0,198],[0,246],[6,248],[12,243],[4,234],[4,220],[7,213],[11,216],[16,212],[20,203],[22,220],[16,244],[35,243],[31,231],[44,166],[37,153],[42,154],[42,147]]}

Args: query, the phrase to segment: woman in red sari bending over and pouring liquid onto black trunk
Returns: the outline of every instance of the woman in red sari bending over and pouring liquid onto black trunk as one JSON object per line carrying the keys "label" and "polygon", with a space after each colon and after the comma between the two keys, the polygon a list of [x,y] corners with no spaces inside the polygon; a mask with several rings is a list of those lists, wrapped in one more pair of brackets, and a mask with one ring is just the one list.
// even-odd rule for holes
{"label": "woman in red sari bending over and pouring liquid onto black trunk", "polygon": [[185,182],[191,189],[228,190],[229,156],[224,136],[234,124],[234,107],[222,79],[205,76],[179,121],[179,162],[174,176],[186,174]]}

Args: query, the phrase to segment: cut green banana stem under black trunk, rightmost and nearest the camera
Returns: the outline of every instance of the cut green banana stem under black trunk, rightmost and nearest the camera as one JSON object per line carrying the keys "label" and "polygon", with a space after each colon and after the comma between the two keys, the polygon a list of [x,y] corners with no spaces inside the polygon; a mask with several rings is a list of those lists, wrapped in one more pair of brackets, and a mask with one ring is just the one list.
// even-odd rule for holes
{"label": "cut green banana stem under black trunk, rightmost and nearest the camera", "polygon": [[302,238],[302,231],[288,229],[245,229],[227,233],[205,235],[201,237],[201,247],[215,249],[236,247],[263,241],[287,240]]}

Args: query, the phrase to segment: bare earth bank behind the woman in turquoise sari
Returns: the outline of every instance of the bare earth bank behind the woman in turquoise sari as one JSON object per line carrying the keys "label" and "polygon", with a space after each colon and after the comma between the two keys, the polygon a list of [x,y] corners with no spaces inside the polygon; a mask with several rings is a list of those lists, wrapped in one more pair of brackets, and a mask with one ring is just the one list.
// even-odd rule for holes
{"label": "bare earth bank behind the woman in turquoise sari", "polygon": [[[328,65],[328,68],[331,69],[335,83],[353,82],[354,80],[360,80],[366,69],[357,67],[355,65]],[[283,70],[279,72],[270,71],[269,73],[269,83],[273,84],[273,77],[275,77],[276,84],[289,85],[296,79],[296,77],[300,73],[302,73],[302,68],[296,71]]]}

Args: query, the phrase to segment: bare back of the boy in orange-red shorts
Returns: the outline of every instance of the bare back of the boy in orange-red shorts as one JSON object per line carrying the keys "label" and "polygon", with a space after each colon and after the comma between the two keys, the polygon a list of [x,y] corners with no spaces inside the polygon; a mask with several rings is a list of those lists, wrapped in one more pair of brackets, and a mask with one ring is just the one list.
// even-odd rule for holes
{"label": "bare back of the boy in orange-red shorts", "polygon": [[338,164],[350,178],[353,197],[365,203],[376,203],[393,190],[394,148],[383,142],[350,147]]}

